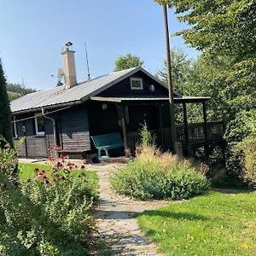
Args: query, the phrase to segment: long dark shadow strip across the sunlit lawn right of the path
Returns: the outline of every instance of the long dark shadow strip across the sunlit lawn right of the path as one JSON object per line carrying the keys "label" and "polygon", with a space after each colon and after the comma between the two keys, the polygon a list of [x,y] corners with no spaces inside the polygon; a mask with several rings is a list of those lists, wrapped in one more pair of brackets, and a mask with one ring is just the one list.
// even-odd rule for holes
{"label": "long dark shadow strip across the sunlit lawn right of the path", "polygon": [[174,218],[174,219],[186,219],[186,220],[211,220],[211,218],[207,218],[203,215],[194,214],[194,213],[187,213],[187,212],[166,212],[161,210],[154,210],[154,211],[146,211],[138,216],[149,216],[149,217],[163,217],[163,218]]}

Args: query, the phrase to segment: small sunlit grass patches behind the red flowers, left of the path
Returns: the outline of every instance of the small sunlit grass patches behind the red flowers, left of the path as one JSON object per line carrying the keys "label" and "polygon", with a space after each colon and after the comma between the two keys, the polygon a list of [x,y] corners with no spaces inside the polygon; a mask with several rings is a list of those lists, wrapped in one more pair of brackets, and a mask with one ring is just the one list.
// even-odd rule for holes
{"label": "small sunlit grass patches behind the red flowers, left of the path", "polygon": [[[26,181],[28,178],[36,177],[36,172],[34,172],[35,168],[39,170],[47,170],[48,166],[46,165],[39,165],[39,164],[19,164],[19,173],[20,173],[20,180]],[[96,172],[90,171],[81,171],[81,170],[73,170],[71,171],[71,175],[78,175],[80,173],[86,173],[86,176],[90,179],[90,182],[93,183],[95,189],[98,185],[98,177]]]}

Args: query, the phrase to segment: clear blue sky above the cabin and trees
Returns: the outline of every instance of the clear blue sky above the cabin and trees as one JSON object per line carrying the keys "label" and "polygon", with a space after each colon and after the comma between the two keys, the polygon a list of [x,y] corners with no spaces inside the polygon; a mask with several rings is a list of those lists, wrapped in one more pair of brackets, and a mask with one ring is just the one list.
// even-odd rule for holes
{"label": "clear blue sky above the cabin and trees", "polygon": [[[113,71],[118,55],[140,56],[150,73],[166,56],[162,7],[154,0],[0,0],[0,57],[9,82],[43,90],[54,87],[61,45],[73,42],[78,80],[87,78],[84,42],[92,77]],[[168,11],[170,33],[186,28]],[[189,57],[183,38],[172,46]]]}

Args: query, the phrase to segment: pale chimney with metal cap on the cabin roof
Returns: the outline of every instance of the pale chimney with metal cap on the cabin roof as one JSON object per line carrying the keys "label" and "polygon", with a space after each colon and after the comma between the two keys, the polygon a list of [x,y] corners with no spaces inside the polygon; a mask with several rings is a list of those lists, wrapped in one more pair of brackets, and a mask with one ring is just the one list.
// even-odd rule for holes
{"label": "pale chimney with metal cap on the cabin roof", "polygon": [[73,44],[71,42],[67,42],[65,44],[66,49],[61,52],[62,69],[64,73],[66,89],[69,89],[73,85],[78,84],[77,74],[76,74],[76,64],[74,60],[75,51],[73,49],[69,49],[72,45]]}

